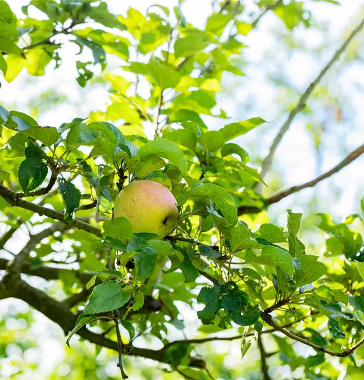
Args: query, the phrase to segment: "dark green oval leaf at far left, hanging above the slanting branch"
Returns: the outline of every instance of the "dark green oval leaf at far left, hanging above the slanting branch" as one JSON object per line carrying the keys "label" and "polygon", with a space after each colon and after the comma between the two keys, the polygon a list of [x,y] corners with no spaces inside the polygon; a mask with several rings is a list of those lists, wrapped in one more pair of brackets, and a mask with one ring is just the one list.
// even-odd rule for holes
{"label": "dark green oval leaf at far left, hanging above the slanting branch", "polygon": [[48,166],[37,158],[25,159],[19,166],[18,178],[25,194],[43,183],[48,173]]}

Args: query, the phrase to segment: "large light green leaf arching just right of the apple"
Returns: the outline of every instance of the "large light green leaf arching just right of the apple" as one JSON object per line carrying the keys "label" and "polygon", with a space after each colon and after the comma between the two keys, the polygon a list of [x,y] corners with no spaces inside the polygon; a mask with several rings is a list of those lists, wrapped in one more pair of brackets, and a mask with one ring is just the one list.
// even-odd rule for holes
{"label": "large light green leaf arching just right of the apple", "polygon": [[228,221],[235,225],[238,222],[235,203],[229,193],[221,186],[212,183],[196,185],[191,189],[190,198],[202,197],[210,199],[217,212]]}

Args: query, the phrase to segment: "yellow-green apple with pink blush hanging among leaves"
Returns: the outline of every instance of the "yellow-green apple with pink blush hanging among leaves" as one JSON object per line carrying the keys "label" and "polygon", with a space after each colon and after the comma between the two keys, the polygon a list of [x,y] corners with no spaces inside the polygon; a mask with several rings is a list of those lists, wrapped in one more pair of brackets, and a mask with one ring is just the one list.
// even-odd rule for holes
{"label": "yellow-green apple with pink blush hanging among leaves", "polygon": [[133,232],[149,232],[163,239],[178,224],[177,202],[167,187],[154,181],[129,183],[118,194],[114,215],[129,219]]}

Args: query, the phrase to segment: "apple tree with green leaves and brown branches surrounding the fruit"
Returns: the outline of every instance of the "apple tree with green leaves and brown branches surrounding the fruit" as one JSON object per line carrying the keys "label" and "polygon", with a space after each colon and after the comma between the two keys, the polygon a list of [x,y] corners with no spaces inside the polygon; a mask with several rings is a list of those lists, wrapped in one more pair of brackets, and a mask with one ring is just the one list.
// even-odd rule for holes
{"label": "apple tree with green leaves and brown branches surrounding the fruit", "polygon": [[[290,30],[314,20],[305,17],[302,2],[255,3],[255,14],[246,12],[245,1],[214,4],[199,29],[184,16],[182,1],[171,8],[151,5],[146,14],[130,8],[116,15],[104,1],[31,0],[21,16],[12,2],[0,1],[2,82],[22,70],[56,75],[62,50],[74,45],[92,57],[74,55],[78,85],[102,78],[110,88],[104,110],[73,120],[64,115],[54,126],[0,105],[6,226],[0,299],[27,302],[62,328],[71,348],[76,334],[114,350],[123,379],[132,375],[132,366],[128,374],[123,366],[132,357],[152,359],[183,378],[223,378],[222,369],[195,349],[235,339],[242,357],[257,345],[265,380],[271,378],[270,356],[310,379],[338,376],[329,358],[362,365],[364,245],[350,225],[363,222],[364,201],[361,214],[341,223],[319,214],[317,228],[327,234],[321,254],[300,240],[302,214],[295,210],[287,210],[286,226],[265,222],[252,228],[244,216],[315,186],[364,153],[361,145],[318,177],[262,195],[284,134],[364,20],[353,25],[292,106],[257,169],[246,147],[234,141],[267,121],[254,116],[229,122],[216,100],[222,76],[244,75],[238,61],[244,37],[267,12]],[[35,8],[42,18],[31,17]],[[121,70],[109,69],[110,62]],[[211,118],[219,128],[209,128]],[[178,225],[164,238],[135,233],[126,217],[114,215],[118,193],[139,180],[162,184],[176,200]],[[18,247],[24,231],[26,243]],[[66,297],[32,286],[31,276],[58,281]],[[197,314],[200,335],[171,340],[171,325],[184,328],[181,303]],[[278,351],[267,351],[267,335]],[[144,347],[134,345],[140,336]],[[151,336],[159,349],[148,344]],[[310,348],[310,355],[295,351],[295,342]]]}

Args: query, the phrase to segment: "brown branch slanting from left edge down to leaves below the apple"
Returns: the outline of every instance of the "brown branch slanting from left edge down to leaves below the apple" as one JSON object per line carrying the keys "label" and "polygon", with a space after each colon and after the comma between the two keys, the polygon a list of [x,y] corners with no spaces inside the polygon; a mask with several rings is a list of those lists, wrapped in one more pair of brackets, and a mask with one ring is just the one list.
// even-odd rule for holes
{"label": "brown branch slanting from left edge down to leaves below the apple", "polygon": [[0,183],[0,196],[2,196],[12,206],[18,206],[26,210],[35,212],[39,215],[46,215],[52,219],[59,220],[68,226],[73,226],[79,230],[83,230],[97,237],[101,237],[101,230],[99,228],[94,227],[93,225],[78,219],[72,219],[71,221],[67,221],[66,219],[64,219],[63,213],[60,211],[52,210],[50,208],[17,198],[16,193],[12,192],[2,183]]}

